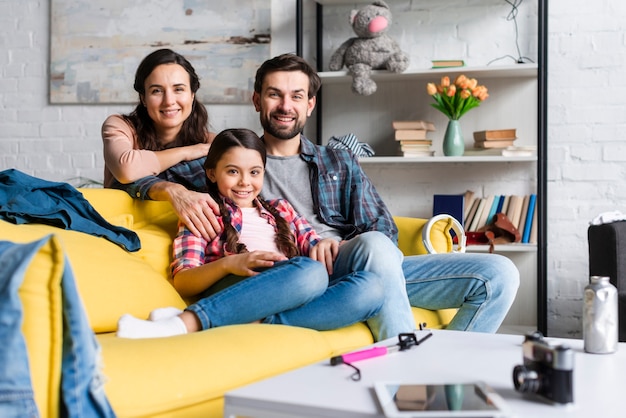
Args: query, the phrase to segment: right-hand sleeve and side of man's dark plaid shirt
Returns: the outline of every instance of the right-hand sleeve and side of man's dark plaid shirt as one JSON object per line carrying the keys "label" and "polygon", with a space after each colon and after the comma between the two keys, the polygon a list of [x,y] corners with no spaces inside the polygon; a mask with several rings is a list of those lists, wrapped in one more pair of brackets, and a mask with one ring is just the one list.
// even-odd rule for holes
{"label": "right-hand sleeve and side of man's dark plaid shirt", "polygon": [[344,239],[380,231],[397,243],[393,217],[352,152],[314,145],[301,135],[300,155],[309,165],[313,202],[325,224]]}

